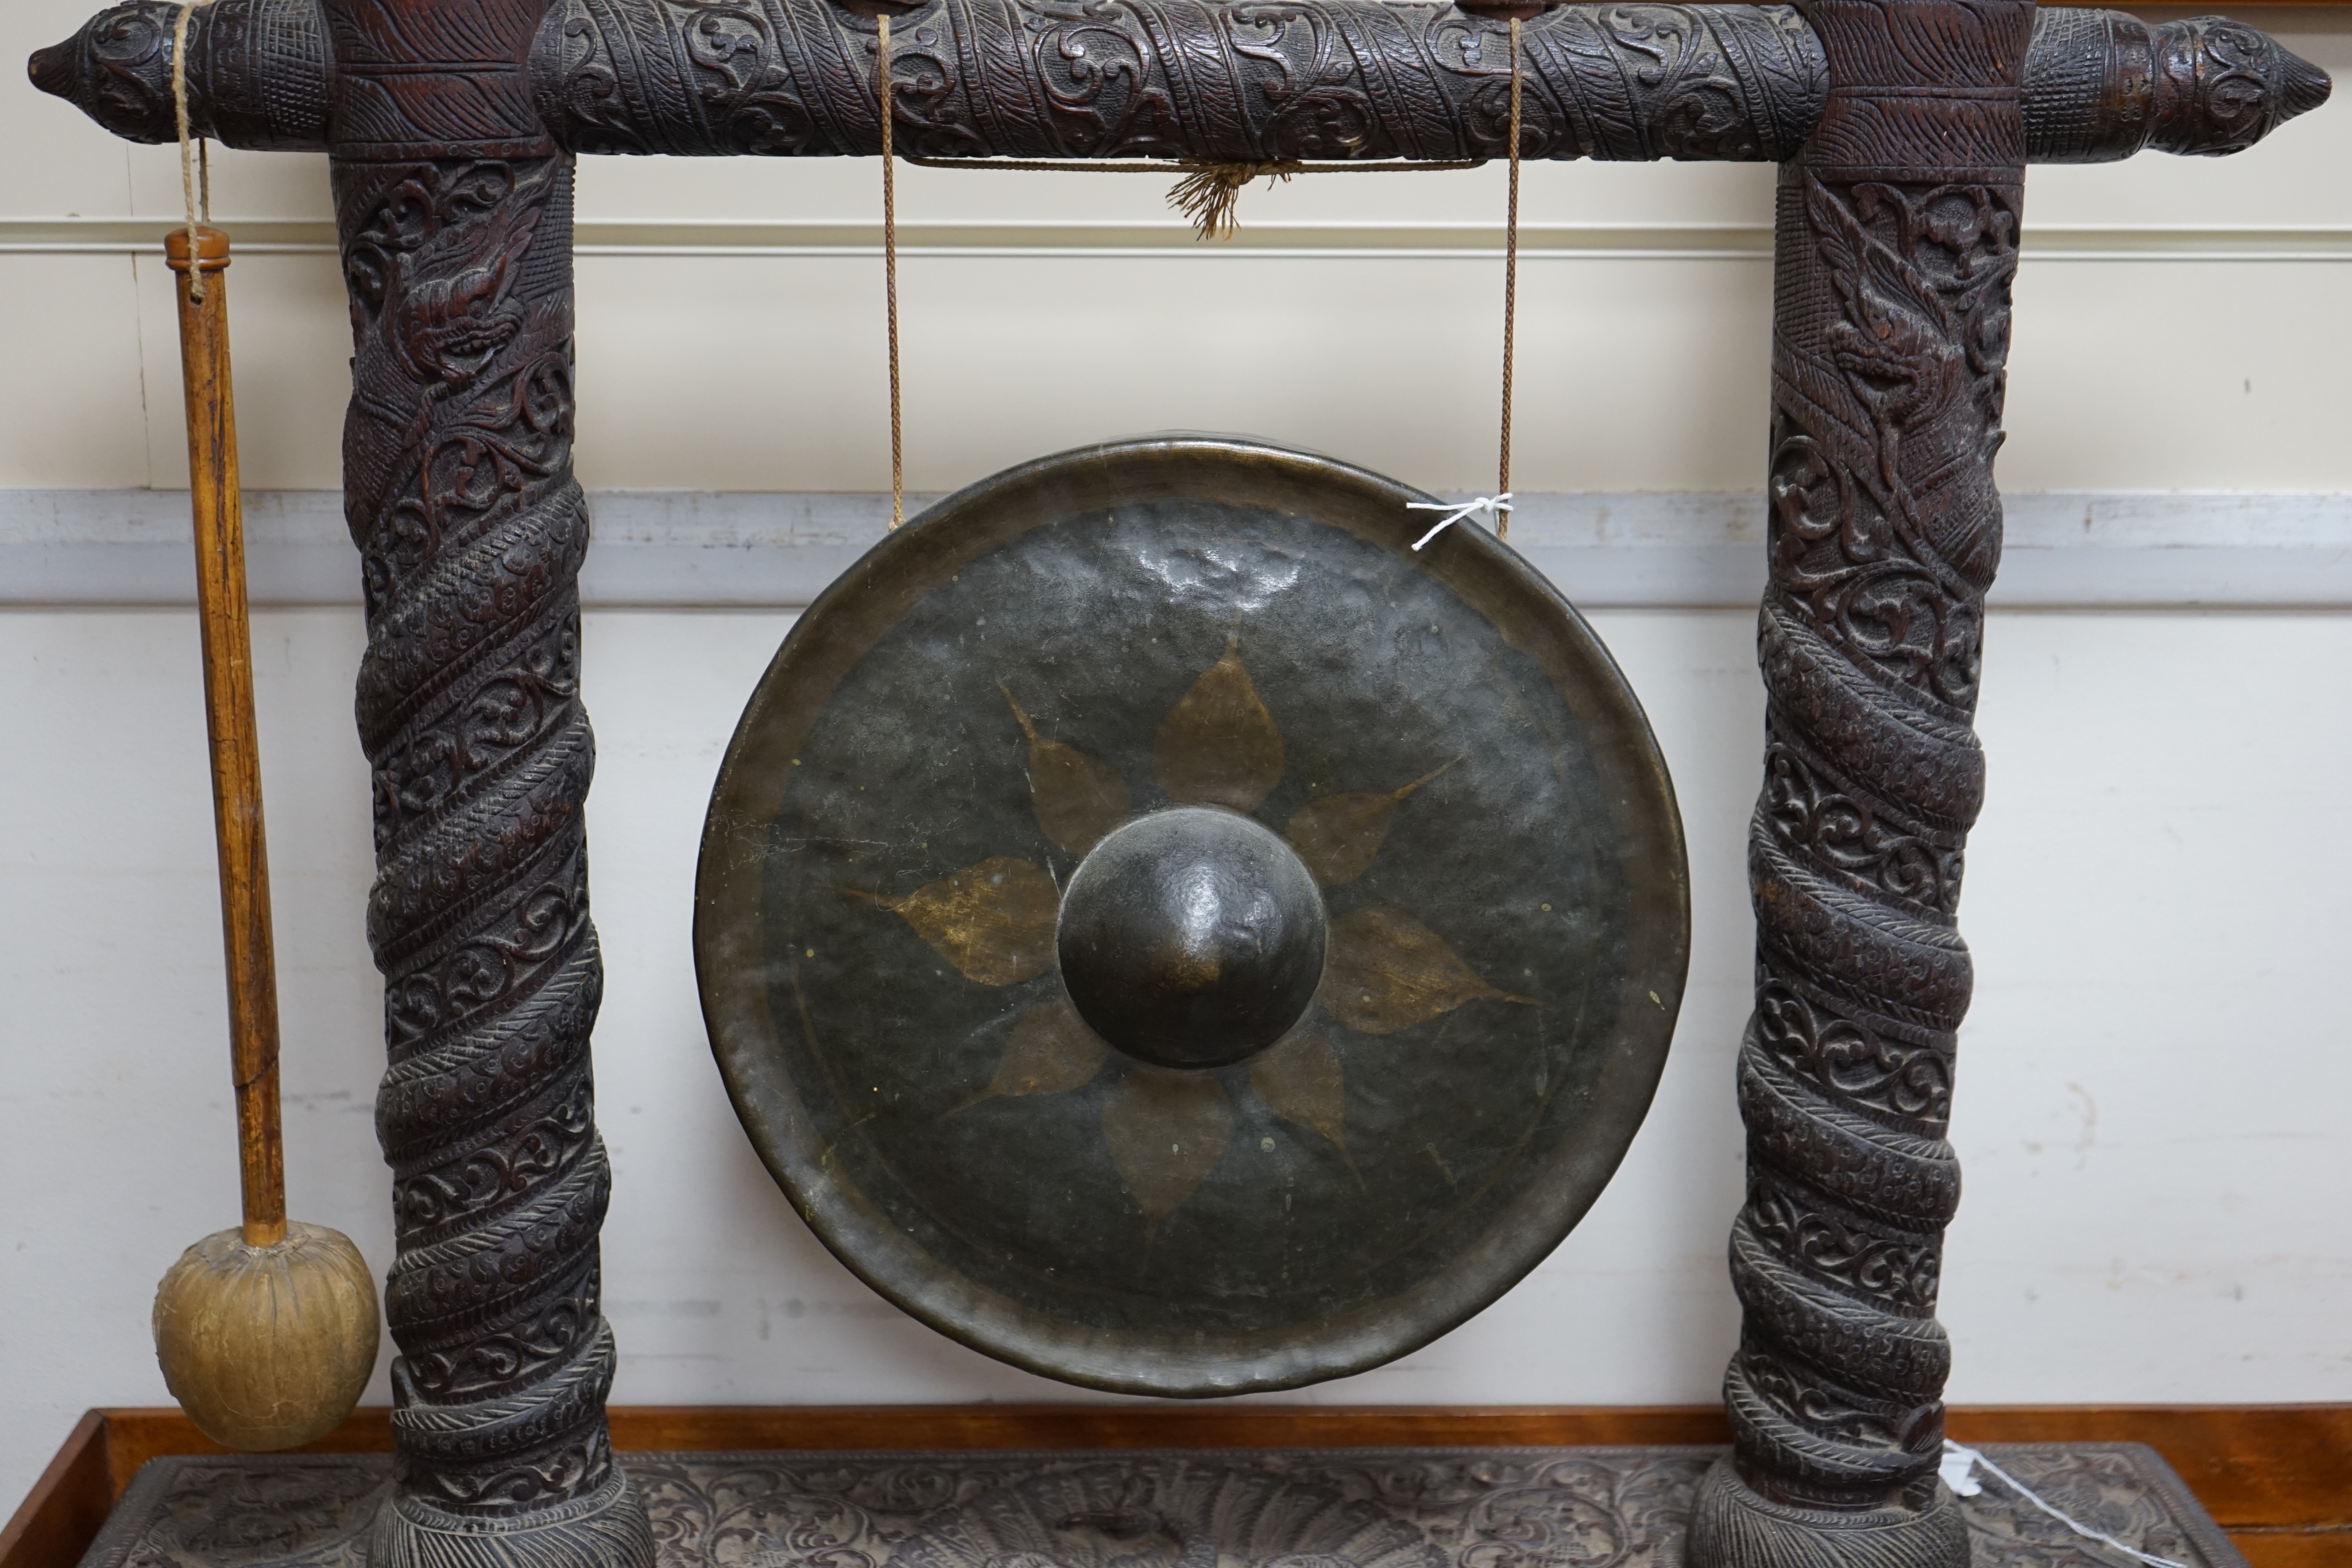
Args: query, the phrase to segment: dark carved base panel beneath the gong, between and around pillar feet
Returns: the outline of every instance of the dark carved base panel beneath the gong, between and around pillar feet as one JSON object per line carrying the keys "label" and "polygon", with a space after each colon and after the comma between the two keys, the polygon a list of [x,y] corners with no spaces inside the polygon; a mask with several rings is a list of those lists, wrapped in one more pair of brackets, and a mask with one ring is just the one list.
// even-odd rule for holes
{"label": "dark carved base panel beneath the gong, between and around pillar feet", "polygon": [[[2246,1568],[2152,1448],[1987,1453],[2129,1547]],[[1719,1460],[1719,1448],[633,1453],[616,1474],[652,1514],[661,1568],[1679,1568],[1693,1507],[1729,1479],[1710,1474]],[[388,1497],[379,1455],[155,1460],[82,1568],[376,1568],[374,1542],[416,1544],[416,1521],[386,1528]],[[1757,1519],[1736,1526],[1757,1554],[1726,1561],[1919,1561],[1842,1554],[1837,1530],[1806,1535],[1804,1556],[1773,1554]],[[574,1542],[546,1542],[555,1554],[501,1561],[626,1568],[595,1519],[579,1526]],[[1943,1526],[1955,1563],[2129,1568],[1990,1479],[1945,1505]]]}

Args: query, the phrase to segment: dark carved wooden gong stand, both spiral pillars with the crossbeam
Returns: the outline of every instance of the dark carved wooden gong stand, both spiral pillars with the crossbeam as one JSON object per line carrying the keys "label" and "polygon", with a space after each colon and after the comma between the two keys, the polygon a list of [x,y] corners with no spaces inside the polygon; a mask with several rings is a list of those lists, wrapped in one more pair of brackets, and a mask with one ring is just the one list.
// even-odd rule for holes
{"label": "dark carved wooden gong stand, both spiral pillars with the crossbeam", "polygon": [[[101,12],[33,80],[169,141],[176,16]],[[1383,0],[931,0],[894,26],[889,96],[898,146],[931,158],[1491,158],[1505,38]],[[652,1561],[602,1418],[572,158],[870,155],[875,42],[833,0],[188,16],[198,134],[332,153],[358,339],[402,1352],[376,1568]],[[1700,1497],[1693,1563],[1959,1568],[1933,1309],[2023,167],[2234,153],[2328,82],[2237,21],[2009,0],[1562,5],[1524,24],[1524,66],[1529,158],[1783,165],[1738,1462]]]}

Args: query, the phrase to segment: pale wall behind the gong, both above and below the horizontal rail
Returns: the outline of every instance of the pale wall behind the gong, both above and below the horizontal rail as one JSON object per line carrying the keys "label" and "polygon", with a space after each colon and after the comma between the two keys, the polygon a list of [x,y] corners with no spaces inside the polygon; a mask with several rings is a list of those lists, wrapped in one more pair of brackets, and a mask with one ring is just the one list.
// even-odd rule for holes
{"label": "pale wall behind the gong, both above and below the horizontal rail", "polygon": [[[92,0],[0,7],[0,59]],[[2347,14],[2246,12],[2338,73]],[[0,487],[181,480],[160,228],[172,153],[0,87]],[[2352,491],[2352,110],[2223,162],[2032,176],[2039,233],[2119,226],[2110,261],[2018,287],[2018,489]],[[1498,172],[1298,181],[1244,221],[1301,254],[946,256],[906,266],[910,487],[1141,428],[1211,425],[1477,487],[1491,451],[1494,263],[1317,254],[1315,223],[1484,223]],[[863,219],[870,165],[590,165],[583,216]],[[230,219],[318,223],[318,160],[228,155]],[[1543,167],[1531,216],[1769,221],[1769,172]],[[1150,181],[913,169],[913,219],[1152,221]],[[89,221],[78,249],[35,219]],[[235,223],[230,223],[235,228]],[[1679,228],[1677,228],[1679,226]],[[1700,226],[1700,228],[1693,228]],[[2218,235],[2199,237],[2199,226]],[[2199,261],[2256,247],[2300,261]],[[2258,249],[2258,247],[2256,247]],[[590,254],[581,468],[604,487],[882,484],[875,263]],[[233,273],[247,480],[332,487],[343,303],[325,254]],[[1526,489],[1752,489],[1769,270],[1757,259],[1529,263]],[[2352,536],[2347,536],[2352,543]],[[1743,832],[1762,693],[1750,616],[1595,616],[1661,731],[1686,813],[1696,954],[1684,1027],[1618,1182],[1510,1298],[1322,1401],[1703,1401],[1736,1312],[1731,1051],[1748,1004]],[[691,990],[687,907],[717,752],[786,614],[588,616],[600,733],[597,1032],[616,1164],[607,1309],[623,1401],[1063,1399],[851,1281],[734,1126]],[[369,1105],[379,994],[360,931],[365,769],[348,609],[256,623],[294,1208],[390,1262]],[[1997,614],[1980,726],[1992,797],[1964,929],[1978,1001],[1955,1140],[1945,1324],[1959,1401],[2352,1399],[2352,1098],[2340,1004],[2352,616]],[[181,1246],[233,1222],[195,630],[183,611],[0,614],[0,1502],[92,1403],[153,1403],[146,1307]],[[374,1392],[383,1399],[383,1387]]]}

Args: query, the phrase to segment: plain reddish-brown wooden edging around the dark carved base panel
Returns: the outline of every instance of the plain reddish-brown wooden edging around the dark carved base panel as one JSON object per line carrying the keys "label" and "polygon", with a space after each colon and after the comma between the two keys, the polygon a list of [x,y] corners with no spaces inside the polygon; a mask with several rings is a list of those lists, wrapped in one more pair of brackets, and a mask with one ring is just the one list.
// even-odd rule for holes
{"label": "plain reddish-brown wooden edging around the dark carved base panel", "polygon": [[[2150,1443],[2253,1568],[2352,1568],[2352,1406],[1959,1406],[1962,1443]],[[619,1450],[1414,1448],[1726,1443],[1719,1406],[614,1406]],[[390,1453],[358,1410],[301,1453]],[[139,1467],[223,1453],[176,1408],[89,1410],[0,1528],[0,1568],[73,1568]]]}

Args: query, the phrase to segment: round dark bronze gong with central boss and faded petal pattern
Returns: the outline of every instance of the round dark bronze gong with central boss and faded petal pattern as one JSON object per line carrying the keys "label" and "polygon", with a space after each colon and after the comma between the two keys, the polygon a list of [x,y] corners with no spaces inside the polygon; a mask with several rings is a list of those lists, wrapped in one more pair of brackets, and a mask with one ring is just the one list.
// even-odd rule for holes
{"label": "round dark bronze gong with central boss and faded petal pattern", "polygon": [[1378,1366],[1583,1218],[1665,1065],[1689,875],[1592,630],[1392,480],[1089,447],[800,618],[727,748],[703,1013],[875,1291],[1136,1394]]}

